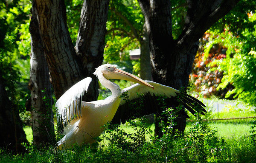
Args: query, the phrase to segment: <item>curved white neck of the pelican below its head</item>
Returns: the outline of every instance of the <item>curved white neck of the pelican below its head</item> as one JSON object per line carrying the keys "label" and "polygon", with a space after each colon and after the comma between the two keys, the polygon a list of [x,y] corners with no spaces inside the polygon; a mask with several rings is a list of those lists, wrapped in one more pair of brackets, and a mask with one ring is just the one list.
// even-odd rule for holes
{"label": "curved white neck of the pelican below its head", "polygon": [[111,96],[112,96],[113,98],[116,98],[116,97],[119,98],[119,97],[120,97],[120,95],[122,94],[122,92],[121,92],[121,89],[120,89],[119,85],[117,85],[116,83],[111,82],[110,80],[106,79],[106,78],[103,76],[103,73],[98,76],[98,79],[99,79],[99,82],[101,82],[101,84],[102,84],[104,87],[106,87],[106,88],[108,88],[109,90],[111,90],[111,93],[112,93]]}

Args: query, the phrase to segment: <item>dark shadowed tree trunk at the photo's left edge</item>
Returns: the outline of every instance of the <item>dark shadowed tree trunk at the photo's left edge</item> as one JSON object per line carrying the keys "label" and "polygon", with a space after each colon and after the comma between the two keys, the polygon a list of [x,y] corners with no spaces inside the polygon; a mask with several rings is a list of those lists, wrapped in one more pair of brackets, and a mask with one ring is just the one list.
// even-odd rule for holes
{"label": "dark shadowed tree trunk at the photo's left edge", "polygon": [[0,70],[0,148],[15,153],[25,152],[21,143],[28,143],[17,107],[9,100]]}

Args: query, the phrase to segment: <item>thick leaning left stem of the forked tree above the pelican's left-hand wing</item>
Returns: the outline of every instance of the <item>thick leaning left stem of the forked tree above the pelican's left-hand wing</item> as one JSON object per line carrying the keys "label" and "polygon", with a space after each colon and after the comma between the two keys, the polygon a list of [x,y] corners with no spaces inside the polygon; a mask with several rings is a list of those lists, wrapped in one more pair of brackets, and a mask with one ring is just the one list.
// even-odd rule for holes
{"label": "thick leaning left stem of the forked tree above the pelican's left-hand wing", "polygon": [[[64,0],[35,0],[39,30],[56,98],[84,77],[67,28]],[[80,62],[80,63],[79,63]]]}

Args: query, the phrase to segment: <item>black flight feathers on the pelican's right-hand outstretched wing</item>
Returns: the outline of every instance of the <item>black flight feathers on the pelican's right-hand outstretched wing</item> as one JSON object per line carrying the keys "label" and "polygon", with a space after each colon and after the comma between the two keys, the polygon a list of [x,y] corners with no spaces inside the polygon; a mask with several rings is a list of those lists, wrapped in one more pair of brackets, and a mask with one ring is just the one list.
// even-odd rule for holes
{"label": "black flight feathers on the pelican's right-hand outstretched wing", "polygon": [[[151,96],[150,93],[139,95],[140,98],[135,98],[119,106],[116,114],[112,120],[113,124],[120,124],[120,121],[125,122],[132,117],[141,117],[149,114],[156,114],[157,112],[163,111],[159,105],[159,97]],[[179,93],[177,96],[171,96],[166,98],[166,107],[176,108],[182,104],[189,112],[195,115],[196,112],[204,115],[207,112],[204,107],[206,107],[197,98],[192,97],[186,93]],[[186,118],[190,118],[185,110],[181,110],[180,114]]]}

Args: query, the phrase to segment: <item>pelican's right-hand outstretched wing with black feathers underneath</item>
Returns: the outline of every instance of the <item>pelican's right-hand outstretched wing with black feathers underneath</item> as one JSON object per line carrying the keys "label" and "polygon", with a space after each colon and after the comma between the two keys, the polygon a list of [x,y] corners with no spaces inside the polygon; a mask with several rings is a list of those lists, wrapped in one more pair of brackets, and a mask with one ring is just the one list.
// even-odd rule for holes
{"label": "pelican's right-hand outstretched wing with black feathers underneath", "polygon": [[[149,115],[152,113],[157,113],[160,110],[159,101],[157,99],[159,97],[157,96],[166,96],[166,107],[178,107],[181,103],[189,112],[195,115],[195,108],[198,110],[201,110],[203,112],[206,112],[204,107],[206,107],[201,101],[199,101],[197,98],[194,98],[186,93],[180,93],[179,90],[176,90],[172,87],[168,87],[166,85],[162,85],[156,82],[152,81],[145,81],[148,84],[151,84],[154,89],[151,87],[146,87],[141,84],[134,84],[128,88],[125,88],[122,90],[123,93],[125,93],[125,97],[122,96],[121,102],[119,104],[119,108],[116,111],[115,117],[113,118],[113,123],[120,123],[121,121],[126,121],[127,119],[131,118],[131,116],[143,116],[143,115]],[[143,97],[138,98],[140,94],[143,94]],[[178,95],[178,96],[177,96]],[[127,98],[128,97],[128,102]],[[141,109],[141,107],[138,107],[140,104],[143,105],[142,110],[138,110],[138,108]],[[131,108],[131,104],[134,106]],[[204,113],[201,112],[201,114],[204,115]],[[186,114],[184,110],[181,110],[180,113],[186,118],[189,118],[189,116]]]}

